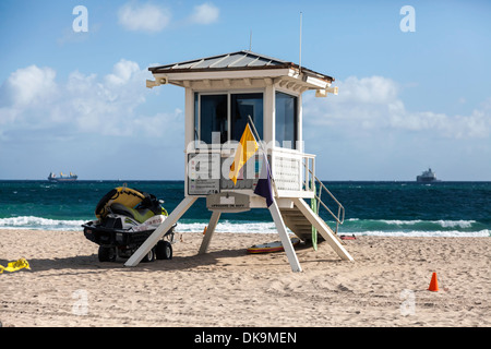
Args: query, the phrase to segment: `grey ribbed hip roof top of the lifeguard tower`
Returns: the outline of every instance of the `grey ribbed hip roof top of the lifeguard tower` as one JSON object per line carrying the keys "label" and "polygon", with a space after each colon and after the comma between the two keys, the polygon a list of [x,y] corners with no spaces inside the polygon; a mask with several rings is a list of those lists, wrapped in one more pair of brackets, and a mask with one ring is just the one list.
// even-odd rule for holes
{"label": "grey ribbed hip roof top of the lifeguard tower", "polygon": [[[172,64],[152,67],[148,70],[152,73],[177,73],[177,72],[197,72],[197,71],[218,71],[218,70],[249,70],[249,69],[279,69],[279,68],[297,68],[300,67],[289,61],[277,58],[271,58],[252,51],[237,51],[219,56],[194,59]],[[316,73],[306,68],[301,68],[302,72],[313,73],[328,81],[334,77]]]}

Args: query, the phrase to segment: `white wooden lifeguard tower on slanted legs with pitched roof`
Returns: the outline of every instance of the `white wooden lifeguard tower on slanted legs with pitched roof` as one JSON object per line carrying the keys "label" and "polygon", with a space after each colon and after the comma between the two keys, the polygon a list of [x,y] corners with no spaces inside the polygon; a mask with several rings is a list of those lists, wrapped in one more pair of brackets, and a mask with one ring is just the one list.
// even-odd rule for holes
{"label": "white wooden lifeguard tower on slanted legs with pitched roof", "polygon": [[[268,207],[294,272],[301,272],[301,266],[286,227],[304,241],[312,239],[314,227],[340,258],[352,261],[337,237],[344,207],[318,180],[315,156],[306,154],[303,147],[302,94],[309,89],[314,89],[316,97],[337,94],[333,77],[252,51],[148,70],[155,81],[147,81],[147,87],[172,84],[185,88],[184,198],[127,261],[127,266],[137,265],[200,197],[206,198],[212,216],[199,253],[206,253],[221,213]],[[260,147],[233,183],[229,168],[248,122]],[[267,155],[267,161],[261,153]],[[267,163],[274,189],[270,206],[263,196],[254,194],[259,173]],[[306,198],[327,209],[336,227],[331,228]],[[328,205],[323,202],[326,200]],[[335,209],[328,207],[333,205]]]}

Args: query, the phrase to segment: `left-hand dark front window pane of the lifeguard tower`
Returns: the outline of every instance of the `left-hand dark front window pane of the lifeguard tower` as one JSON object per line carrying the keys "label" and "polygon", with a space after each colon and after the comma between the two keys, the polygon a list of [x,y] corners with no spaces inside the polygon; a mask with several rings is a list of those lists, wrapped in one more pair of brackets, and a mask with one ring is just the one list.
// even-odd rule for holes
{"label": "left-hand dark front window pane of the lifeguard tower", "polygon": [[227,142],[227,95],[201,95],[200,139],[212,144],[212,132],[218,132],[220,143]]}

